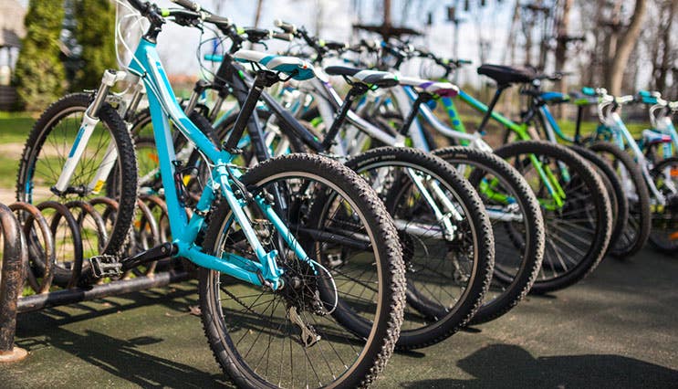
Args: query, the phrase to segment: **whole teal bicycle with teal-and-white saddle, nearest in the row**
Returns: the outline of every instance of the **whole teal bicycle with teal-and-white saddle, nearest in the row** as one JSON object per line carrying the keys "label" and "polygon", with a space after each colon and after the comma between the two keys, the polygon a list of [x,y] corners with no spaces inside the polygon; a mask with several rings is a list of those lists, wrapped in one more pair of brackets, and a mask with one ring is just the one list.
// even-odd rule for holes
{"label": "whole teal bicycle with teal-and-white saddle, nearest in the row", "polygon": [[[84,112],[74,108],[81,106],[81,95],[71,95],[43,114],[22,157],[19,195],[60,201],[94,192],[118,196],[114,233],[105,253],[82,269],[84,284],[159,258],[187,258],[200,266],[204,331],[235,384],[370,384],[398,339],[405,299],[402,250],[387,210],[359,175],[322,156],[289,154],[251,169],[234,163],[262,90],[281,79],[309,79],[312,66],[297,58],[270,63],[235,53],[258,70],[232,136],[216,146],[204,134],[209,125],[189,119],[176,100],[156,38],[166,20],[219,29],[231,23],[185,0],[175,1],[180,9],[129,3],[150,26],[128,71],[107,71]],[[130,134],[111,105],[124,110],[129,101],[109,93],[122,79],[131,85],[141,80],[149,92],[173,238],[130,258],[120,258],[120,252],[133,213],[125,202],[130,193],[132,204],[135,199],[136,160]],[[176,158],[170,122],[210,166],[190,219],[186,167]],[[329,270],[336,258],[341,267]]]}

